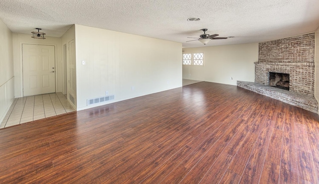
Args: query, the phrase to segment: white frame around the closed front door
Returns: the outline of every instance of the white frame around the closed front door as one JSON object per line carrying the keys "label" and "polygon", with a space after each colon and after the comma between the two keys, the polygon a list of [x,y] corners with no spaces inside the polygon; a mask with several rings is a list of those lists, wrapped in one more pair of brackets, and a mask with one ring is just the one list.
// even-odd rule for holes
{"label": "white frame around the closed front door", "polygon": [[56,44],[40,44],[40,43],[30,43],[30,42],[20,42],[19,43],[19,57],[20,57],[20,61],[19,61],[19,72],[20,72],[20,97],[23,97],[23,71],[22,71],[22,67],[23,67],[23,53],[22,53],[22,46],[23,44],[29,44],[29,45],[47,45],[47,46],[54,46],[54,68],[55,68],[55,92],[57,92],[58,89],[58,75],[60,73],[59,69],[58,69],[58,64],[57,64],[57,45]]}

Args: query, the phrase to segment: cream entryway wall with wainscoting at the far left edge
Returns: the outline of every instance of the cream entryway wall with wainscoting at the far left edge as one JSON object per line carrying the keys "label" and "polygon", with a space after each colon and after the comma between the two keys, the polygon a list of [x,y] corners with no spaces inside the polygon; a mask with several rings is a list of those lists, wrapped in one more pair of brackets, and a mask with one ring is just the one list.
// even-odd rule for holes
{"label": "cream entryway wall with wainscoting at the far left edge", "polygon": [[0,123],[14,98],[12,32],[0,20]]}

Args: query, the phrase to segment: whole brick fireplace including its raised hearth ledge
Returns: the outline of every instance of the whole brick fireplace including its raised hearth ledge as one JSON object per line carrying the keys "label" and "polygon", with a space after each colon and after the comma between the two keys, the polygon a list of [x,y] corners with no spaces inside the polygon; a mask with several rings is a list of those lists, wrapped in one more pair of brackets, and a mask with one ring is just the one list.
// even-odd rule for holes
{"label": "whole brick fireplace including its raised hearth ledge", "polygon": [[[237,86],[318,113],[314,97],[315,33],[262,42],[258,52],[255,83],[238,81]],[[273,73],[285,74],[285,78],[288,75],[289,88],[271,87]]]}

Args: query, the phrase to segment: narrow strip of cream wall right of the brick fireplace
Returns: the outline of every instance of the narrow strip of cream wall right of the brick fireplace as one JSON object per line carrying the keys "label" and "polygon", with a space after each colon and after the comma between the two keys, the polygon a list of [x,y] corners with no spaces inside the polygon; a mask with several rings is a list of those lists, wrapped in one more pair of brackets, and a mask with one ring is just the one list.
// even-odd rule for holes
{"label": "narrow strip of cream wall right of the brick fireplace", "polygon": [[315,98],[319,101],[319,27],[315,40]]}

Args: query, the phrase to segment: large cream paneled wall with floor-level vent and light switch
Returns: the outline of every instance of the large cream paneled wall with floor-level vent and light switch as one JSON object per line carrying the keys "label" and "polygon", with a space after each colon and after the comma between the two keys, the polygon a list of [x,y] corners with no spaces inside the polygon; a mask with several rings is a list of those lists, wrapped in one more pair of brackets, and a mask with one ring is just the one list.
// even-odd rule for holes
{"label": "large cream paneled wall with floor-level vent and light switch", "polygon": [[106,91],[115,102],[182,86],[181,43],[82,25],[75,40],[78,110]]}

